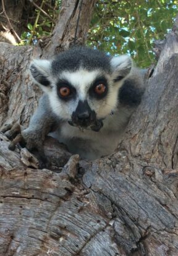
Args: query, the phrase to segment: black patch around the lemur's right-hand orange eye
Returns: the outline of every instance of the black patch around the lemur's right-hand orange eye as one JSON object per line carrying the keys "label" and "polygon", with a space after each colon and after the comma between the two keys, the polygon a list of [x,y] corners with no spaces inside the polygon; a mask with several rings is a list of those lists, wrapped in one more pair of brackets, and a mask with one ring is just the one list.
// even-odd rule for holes
{"label": "black patch around the lemur's right-hand orange eye", "polygon": [[[98,85],[104,85],[105,90],[103,93],[96,93],[97,92],[96,87]],[[97,77],[96,80],[91,85],[90,89],[88,90],[88,93],[89,93],[90,97],[92,97],[92,98],[96,98],[98,100],[103,99],[108,93],[108,82],[107,82],[106,78],[103,76]]]}

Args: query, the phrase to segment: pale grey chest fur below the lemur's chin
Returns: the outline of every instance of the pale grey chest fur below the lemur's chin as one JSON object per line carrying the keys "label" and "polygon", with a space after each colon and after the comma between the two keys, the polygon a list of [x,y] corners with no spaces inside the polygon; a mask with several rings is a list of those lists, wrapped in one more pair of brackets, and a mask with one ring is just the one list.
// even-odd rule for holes
{"label": "pale grey chest fur below the lemur's chin", "polygon": [[114,152],[129,116],[130,112],[127,109],[116,111],[112,116],[104,119],[103,127],[99,132],[89,129],[80,130],[64,122],[53,136],[59,142],[65,143],[72,153],[78,153],[82,158],[93,160]]}

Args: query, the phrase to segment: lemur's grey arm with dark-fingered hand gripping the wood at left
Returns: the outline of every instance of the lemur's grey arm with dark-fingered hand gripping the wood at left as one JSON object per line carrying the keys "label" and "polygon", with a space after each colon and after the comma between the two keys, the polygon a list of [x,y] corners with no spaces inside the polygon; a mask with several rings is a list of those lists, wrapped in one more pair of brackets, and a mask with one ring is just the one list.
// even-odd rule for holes
{"label": "lemur's grey arm with dark-fingered hand gripping the wood at left", "polygon": [[22,147],[26,147],[29,151],[37,150],[40,157],[44,156],[43,142],[45,136],[55,130],[59,126],[60,119],[51,110],[48,95],[40,98],[39,106],[30,119],[27,129],[23,129],[20,124],[8,124],[2,127],[3,132],[9,140],[10,150],[15,150],[15,145],[20,143]]}

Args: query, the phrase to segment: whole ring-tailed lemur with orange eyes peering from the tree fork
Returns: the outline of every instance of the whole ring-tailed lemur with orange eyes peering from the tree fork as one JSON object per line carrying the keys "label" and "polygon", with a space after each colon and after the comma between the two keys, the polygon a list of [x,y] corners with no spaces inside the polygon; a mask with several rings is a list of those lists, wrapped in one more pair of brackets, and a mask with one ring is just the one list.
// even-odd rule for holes
{"label": "whole ring-tailed lemur with orange eyes peering from the tree fork", "polygon": [[43,147],[53,131],[82,158],[114,152],[144,91],[143,75],[129,56],[79,47],[52,61],[34,60],[30,70],[45,95],[22,132],[27,148]]}

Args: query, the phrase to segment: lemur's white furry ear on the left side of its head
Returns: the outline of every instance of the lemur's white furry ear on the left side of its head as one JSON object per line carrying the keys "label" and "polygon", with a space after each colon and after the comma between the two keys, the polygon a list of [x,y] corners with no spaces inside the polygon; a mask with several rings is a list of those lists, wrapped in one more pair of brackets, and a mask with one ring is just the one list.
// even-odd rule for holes
{"label": "lemur's white furry ear on the left side of its head", "polygon": [[[42,90],[49,90],[49,75],[51,74],[51,62],[45,59],[34,59],[30,65],[30,72],[35,82],[40,85]],[[42,85],[42,86],[41,86]]]}

